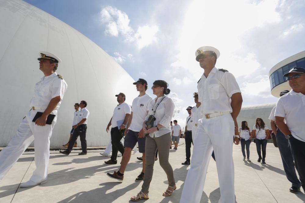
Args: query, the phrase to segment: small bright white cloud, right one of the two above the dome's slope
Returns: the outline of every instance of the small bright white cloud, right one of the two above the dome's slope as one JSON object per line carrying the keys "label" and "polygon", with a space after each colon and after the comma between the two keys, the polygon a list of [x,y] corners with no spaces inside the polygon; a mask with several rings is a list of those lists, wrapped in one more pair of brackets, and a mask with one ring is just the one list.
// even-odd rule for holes
{"label": "small bright white cloud, right one of the two above the dome's slope", "polygon": [[138,27],[138,30],[135,33],[135,39],[137,40],[138,48],[141,49],[143,47],[147,47],[153,42],[156,42],[156,33],[158,31],[159,28],[156,25],[145,25]]}

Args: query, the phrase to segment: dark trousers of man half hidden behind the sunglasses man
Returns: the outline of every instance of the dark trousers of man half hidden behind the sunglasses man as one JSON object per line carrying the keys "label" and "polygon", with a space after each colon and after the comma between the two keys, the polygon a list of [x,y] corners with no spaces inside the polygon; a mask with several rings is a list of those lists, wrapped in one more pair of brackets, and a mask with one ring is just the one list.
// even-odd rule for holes
{"label": "dark trousers of man half hidden behind the sunglasses man", "polygon": [[288,139],[285,138],[285,135],[279,129],[275,138],[276,142],[278,143],[278,150],[281,154],[283,167],[287,179],[292,183],[293,187],[301,187],[300,180],[296,176],[296,169],[294,167],[293,156],[291,153]]}

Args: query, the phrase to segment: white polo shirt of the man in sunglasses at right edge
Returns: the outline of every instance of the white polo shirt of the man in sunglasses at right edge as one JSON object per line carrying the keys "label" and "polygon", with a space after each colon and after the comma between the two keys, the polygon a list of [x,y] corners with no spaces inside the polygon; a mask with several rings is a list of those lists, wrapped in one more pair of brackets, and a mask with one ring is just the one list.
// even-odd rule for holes
{"label": "white polo shirt of the man in sunglasses at right edge", "polygon": [[305,95],[290,90],[278,99],[274,116],[284,117],[291,135],[305,142]]}

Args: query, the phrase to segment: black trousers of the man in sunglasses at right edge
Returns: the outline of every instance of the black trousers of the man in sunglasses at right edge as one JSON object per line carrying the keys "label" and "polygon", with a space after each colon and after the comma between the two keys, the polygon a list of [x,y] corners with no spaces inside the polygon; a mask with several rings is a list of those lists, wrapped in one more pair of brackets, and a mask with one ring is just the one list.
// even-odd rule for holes
{"label": "black trousers of the man in sunglasses at right edge", "polygon": [[302,142],[294,137],[289,139],[292,156],[296,165],[296,170],[299,173],[300,181],[303,190],[305,191],[305,142]]}

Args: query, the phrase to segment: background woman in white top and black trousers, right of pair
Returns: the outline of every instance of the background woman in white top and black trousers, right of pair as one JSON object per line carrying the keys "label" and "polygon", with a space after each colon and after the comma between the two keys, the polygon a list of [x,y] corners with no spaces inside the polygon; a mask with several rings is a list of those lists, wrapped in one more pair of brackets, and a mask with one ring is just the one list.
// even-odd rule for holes
{"label": "background woman in white top and black trousers, right of pair", "polygon": [[[262,163],[266,164],[266,147],[267,147],[267,138],[269,136],[269,130],[267,125],[265,125],[263,119],[257,118],[256,124],[253,126],[253,135],[256,138],[256,150],[258,154],[258,162],[262,160]],[[263,158],[261,156],[261,151],[263,152]]]}

